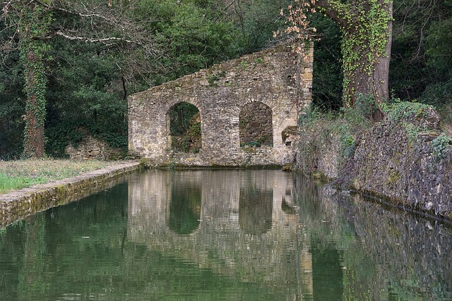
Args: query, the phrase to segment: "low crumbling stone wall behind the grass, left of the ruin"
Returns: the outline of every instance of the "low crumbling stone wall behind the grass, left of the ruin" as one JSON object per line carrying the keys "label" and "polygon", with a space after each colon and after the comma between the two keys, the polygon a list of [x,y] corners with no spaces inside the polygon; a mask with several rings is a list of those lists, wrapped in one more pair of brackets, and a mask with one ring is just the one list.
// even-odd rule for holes
{"label": "low crumbling stone wall behind the grass, left of the ruin", "polygon": [[124,151],[121,149],[109,147],[107,142],[97,140],[90,135],[86,135],[76,147],[66,146],[64,152],[69,155],[70,159],[75,160],[109,160],[124,156]]}

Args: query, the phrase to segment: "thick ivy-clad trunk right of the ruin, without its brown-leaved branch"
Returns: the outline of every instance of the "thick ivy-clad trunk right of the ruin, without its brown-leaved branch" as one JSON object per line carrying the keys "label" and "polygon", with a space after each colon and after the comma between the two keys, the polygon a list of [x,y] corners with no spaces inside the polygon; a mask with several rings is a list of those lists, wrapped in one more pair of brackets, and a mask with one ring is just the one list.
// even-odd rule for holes
{"label": "thick ivy-clad trunk right of the ruin, without its brown-leaved branch", "polygon": [[343,105],[354,106],[360,96],[387,102],[392,0],[354,0],[344,8],[342,16],[327,13],[343,30]]}

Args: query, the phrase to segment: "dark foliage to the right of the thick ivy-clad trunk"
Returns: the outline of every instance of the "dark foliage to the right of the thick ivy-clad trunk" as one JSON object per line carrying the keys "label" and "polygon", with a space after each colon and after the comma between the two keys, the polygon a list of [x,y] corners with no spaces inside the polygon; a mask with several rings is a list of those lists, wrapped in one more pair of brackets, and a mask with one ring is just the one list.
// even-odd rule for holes
{"label": "dark foliage to the right of the thick ivy-clad trunk", "polygon": [[[435,104],[451,95],[451,1],[394,1],[390,83],[396,97]],[[446,84],[446,85],[444,85]],[[441,102],[450,102],[441,99]]]}

